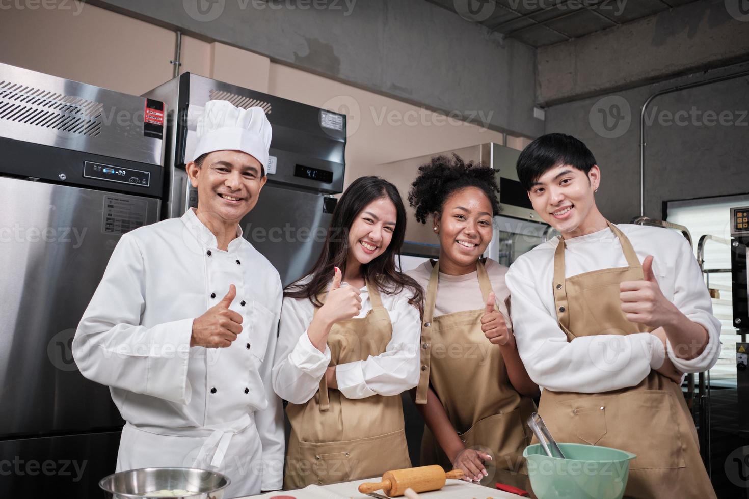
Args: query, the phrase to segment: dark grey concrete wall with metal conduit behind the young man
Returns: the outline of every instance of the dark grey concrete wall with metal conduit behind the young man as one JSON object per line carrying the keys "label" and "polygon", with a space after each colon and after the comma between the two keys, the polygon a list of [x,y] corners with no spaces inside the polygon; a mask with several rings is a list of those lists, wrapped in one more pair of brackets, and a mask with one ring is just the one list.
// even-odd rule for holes
{"label": "dark grey concrete wall with metal conduit behind the young man", "polygon": [[[640,106],[675,85],[749,70],[739,64],[546,110],[547,132],[585,142],[602,171],[596,199],[614,222],[640,214]],[[646,117],[645,215],[667,200],[749,192],[749,77],[656,97]],[[606,120],[604,126],[604,118]]]}

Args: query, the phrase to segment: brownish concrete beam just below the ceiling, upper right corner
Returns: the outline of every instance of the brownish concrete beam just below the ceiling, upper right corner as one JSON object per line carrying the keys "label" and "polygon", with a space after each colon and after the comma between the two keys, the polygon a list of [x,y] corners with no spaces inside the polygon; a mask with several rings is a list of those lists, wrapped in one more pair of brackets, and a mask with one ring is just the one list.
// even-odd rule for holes
{"label": "brownish concrete beam just below the ceiling, upper right corner", "polygon": [[536,100],[556,105],[748,61],[749,22],[730,12],[739,1],[694,1],[541,47]]}

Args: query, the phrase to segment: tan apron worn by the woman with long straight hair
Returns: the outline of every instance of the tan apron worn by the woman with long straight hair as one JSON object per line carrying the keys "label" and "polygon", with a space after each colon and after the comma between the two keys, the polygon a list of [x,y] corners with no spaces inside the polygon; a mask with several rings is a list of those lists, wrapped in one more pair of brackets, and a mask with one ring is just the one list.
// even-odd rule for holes
{"label": "tan apron worn by the woman with long straight hair", "polygon": [[[331,366],[385,352],[392,336],[390,317],[376,287],[368,282],[367,290],[372,310],[330,329]],[[411,466],[400,395],[348,399],[338,390],[328,390],[323,376],[318,393],[306,404],[289,403],[286,413],[291,436],[285,489],[379,477]]]}

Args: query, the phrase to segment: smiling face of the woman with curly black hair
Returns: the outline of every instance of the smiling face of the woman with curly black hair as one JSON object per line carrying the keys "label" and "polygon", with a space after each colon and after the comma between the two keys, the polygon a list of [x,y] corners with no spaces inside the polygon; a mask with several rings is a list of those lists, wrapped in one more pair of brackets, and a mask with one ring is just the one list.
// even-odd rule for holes
{"label": "smiling face of the woman with curly black hair", "polygon": [[476,261],[491,242],[491,201],[477,187],[466,187],[445,200],[434,216],[440,235],[440,270],[473,272]]}

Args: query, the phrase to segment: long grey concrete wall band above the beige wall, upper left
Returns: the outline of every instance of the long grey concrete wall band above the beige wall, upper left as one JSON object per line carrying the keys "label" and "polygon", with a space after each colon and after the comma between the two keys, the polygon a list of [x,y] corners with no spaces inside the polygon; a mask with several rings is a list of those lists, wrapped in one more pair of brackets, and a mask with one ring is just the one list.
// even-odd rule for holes
{"label": "long grey concrete wall band above the beige wall, upper left", "polygon": [[543,132],[533,48],[424,0],[91,3],[433,110],[482,111],[497,130]]}

